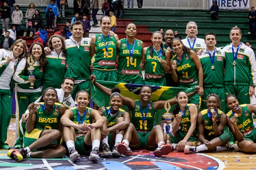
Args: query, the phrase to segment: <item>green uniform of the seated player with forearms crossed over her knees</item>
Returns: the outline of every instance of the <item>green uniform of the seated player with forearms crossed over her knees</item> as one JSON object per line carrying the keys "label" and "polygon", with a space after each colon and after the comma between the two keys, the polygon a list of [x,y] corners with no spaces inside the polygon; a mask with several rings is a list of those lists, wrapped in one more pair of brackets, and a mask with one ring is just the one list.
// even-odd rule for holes
{"label": "green uniform of the seated player with forearms crossed over her knees", "polygon": [[[80,119],[81,123],[85,123],[85,124],[92,124],[92,118],[91,118],[91,108],[86,107],[85,110],[85,119],[84,121],[82,120],[83,116],[80,116],[78,111],[77,111],[77,107],[73,107],[71,108],[72,112],[73,112],[73,116],[70,119],[71,121],[73,121],[75,124],[79,124],[78,119]],[[83,121],[83,122],[82,122]],[[91,152],[91,146],[87,146],[84,143],[84,139],[85,139],[85,135],[84,133],[79,132],[77,129],[74,129],[75,132],[75,149],[77,150],[77,152],[79,154],[83,154],[83,155],[88,155]]]}

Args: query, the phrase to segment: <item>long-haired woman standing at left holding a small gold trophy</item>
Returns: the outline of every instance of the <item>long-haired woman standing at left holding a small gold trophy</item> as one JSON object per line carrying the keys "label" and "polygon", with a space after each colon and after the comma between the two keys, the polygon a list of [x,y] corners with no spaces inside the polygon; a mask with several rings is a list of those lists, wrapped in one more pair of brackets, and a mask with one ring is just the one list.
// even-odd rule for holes
{"label": "long-haired woman standing at left holding a small gold trophy", "polygon": [[15,148],[23,145],[23,135],[19,130],[19,121],[22,114],[41,96],[43,73],[46,66],[46,55],[42,44],[36,42],[31,45],[27,58],[23,58],[17,65],[14,80],[18,79],[15,87],[16,98],[16,140]]}

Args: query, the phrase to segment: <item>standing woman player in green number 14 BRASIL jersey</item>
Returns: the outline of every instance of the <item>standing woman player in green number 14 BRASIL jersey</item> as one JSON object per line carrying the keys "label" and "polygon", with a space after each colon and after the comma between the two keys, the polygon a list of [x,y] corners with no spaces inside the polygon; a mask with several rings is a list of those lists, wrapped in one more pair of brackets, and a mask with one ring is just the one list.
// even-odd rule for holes
{"label": "standing woman player in green number 14 BRASIL jersey", "polygon": [[144,44],[141,40],[135,38],[137,27],[134,23],[126,25],[125,33],[126,38],[118,40],[116,44],[118,50],[118,82],[144,84],[140,67]]}

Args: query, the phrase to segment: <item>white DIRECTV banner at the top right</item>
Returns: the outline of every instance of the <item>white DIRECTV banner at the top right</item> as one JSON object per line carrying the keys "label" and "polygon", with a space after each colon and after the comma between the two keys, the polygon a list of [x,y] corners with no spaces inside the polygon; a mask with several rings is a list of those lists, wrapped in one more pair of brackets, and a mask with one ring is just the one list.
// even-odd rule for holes
{"label": "white DIRECTV banner at the top right", "polygon": [[[209,9],[213,0],[209,0]],[[248,10],[250,0],[217,0],[217,5],[222,10]]]}

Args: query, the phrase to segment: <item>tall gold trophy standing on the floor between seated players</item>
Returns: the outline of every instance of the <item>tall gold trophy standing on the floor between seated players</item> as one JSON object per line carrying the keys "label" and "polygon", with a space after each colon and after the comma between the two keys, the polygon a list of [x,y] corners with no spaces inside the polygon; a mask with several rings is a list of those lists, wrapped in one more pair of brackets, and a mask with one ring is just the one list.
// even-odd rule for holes
{"label": "tall gold trophy standing on the floor between seated players", "polygon": [[164,115],[162,115],[161,118],[162,118],[162,121],[167,124],[165,126],[166,138],[167,138],[166,144],[170,144],[170,135],[169,135],[170,125],[169,125],[169,123],[171,123],[173,121],[174,116],[172,113],[169,113],[169,110],[171,109],[171,105],[170,105],[169,101],[166,102],[164,106],[165,106],[166,113]]}

